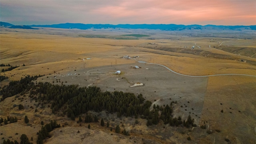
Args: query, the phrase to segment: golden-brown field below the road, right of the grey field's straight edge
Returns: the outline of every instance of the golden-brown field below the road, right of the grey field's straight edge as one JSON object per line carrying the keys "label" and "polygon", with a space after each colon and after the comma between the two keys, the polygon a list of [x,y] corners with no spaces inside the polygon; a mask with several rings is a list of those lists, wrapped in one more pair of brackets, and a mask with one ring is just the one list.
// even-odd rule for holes
{"label": "golden-brown field below the road, right of the grey field's straight edge", "polygon": [[[219,76],[208,80],[201,123],[211,130],[222,130],[216,140],[229,138],[236,144],[256,142],[256,78]],[[223,110],[223,113],[221,112]],[[214,137],[202,138],[209,143]],[[222,143],[221,141],[215,141]]]}

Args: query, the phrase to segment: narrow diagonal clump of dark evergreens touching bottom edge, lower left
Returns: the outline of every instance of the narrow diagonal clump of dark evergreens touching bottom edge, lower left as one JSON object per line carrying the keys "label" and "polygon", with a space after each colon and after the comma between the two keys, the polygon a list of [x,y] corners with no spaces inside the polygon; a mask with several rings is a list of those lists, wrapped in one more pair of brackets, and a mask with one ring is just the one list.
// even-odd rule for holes
{"label": "narrow diagonal clump of dark evergreens touching bottom edge, lower left", "polygon": [[42,126],[41,130],[39,130],[36,144],[43,144],[44,139],[50,137],[49,132],[54,130],[54,128],[60,128],[60,124],[57,124],[56,120],[52,121],[45,126]]}

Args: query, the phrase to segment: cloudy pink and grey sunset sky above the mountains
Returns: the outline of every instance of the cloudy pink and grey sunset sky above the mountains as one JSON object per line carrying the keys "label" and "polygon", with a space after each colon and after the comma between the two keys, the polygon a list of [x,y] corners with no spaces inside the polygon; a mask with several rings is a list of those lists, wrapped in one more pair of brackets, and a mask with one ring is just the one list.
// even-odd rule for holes
{"label": "cloudy pink and grey sunset sky above the mountains", "polygon": [[0,21],[256,25],[256,0],[0,0]]}

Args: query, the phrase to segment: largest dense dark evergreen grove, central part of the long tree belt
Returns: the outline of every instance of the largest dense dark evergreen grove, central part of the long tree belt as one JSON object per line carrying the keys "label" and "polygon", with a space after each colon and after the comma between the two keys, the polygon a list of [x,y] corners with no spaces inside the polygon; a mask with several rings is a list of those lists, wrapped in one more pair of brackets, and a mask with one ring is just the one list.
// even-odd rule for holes
{"label": "largest dense dark evergreen grove, central part of the long tree belt", "polygon": [[138,116],[146,109],[149,110],[152,104],[150,101],[144,103],[142,94],[136,97],[133,93],[101,92],[96,86],[78,88],[78,85],[59,86],[39,82],[35,91],[33,93],[40,95],[38,100],[52,102],[53,113],[62,110],[63,114],[67,114],[72,120],[89,110],[117,112],[118,117]]}

